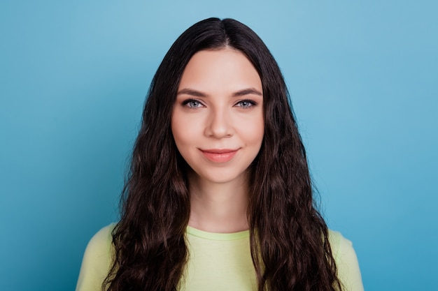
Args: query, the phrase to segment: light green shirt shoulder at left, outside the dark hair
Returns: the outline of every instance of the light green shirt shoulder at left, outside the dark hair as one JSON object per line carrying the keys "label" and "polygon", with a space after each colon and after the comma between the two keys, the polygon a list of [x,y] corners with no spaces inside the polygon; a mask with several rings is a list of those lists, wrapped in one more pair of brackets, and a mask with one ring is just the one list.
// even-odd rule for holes
{"label": "light green shirt shoulder at left, outside the dark hair", "polygon": [[111,232],[114,227],[114,223],[103,227],[88,242],[80,267],[76,291],[101,290],[101,285],[113,262]]}

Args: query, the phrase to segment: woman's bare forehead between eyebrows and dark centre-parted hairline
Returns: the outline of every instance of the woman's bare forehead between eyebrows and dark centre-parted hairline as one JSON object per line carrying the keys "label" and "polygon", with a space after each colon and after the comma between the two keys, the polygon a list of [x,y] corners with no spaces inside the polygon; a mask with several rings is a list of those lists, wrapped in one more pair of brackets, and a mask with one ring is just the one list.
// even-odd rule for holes
{"label": "woman's bare forehead between eyebrows and dark centre-parted hairline", "polygon": [[260,76],[253,64],[239,50],[202,50],[193,55],[183,71],[179,89],[199,90],[254,87],[262,90]]}

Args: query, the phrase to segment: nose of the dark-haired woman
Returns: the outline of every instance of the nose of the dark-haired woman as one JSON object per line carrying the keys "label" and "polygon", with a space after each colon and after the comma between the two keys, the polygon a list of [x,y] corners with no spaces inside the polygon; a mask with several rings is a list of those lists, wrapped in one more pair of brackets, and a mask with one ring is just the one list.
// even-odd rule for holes
{"label": "nose of the dark-haired woman", "polygon": [[233,124],[228,110],[219,108],[209,112],[205,135],[215,138],[231,137],[233,135]]}

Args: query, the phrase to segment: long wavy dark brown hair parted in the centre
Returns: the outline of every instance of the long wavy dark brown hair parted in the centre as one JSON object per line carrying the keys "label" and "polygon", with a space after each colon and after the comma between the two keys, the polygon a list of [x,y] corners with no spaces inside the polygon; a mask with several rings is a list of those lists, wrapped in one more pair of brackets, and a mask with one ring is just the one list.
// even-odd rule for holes
{"label": "long wavy dark brown hair parted in the centre", "polygon": [[190,193],[171,113],[193,54],[225,47],[245,54],[262,80],[264,138],[250,166],[247,211],[258,290],[341,290],[283,75],[254,31],[218,18],[179,36],[153,77],[112,233],[114,262],[102,290],[178,290],[188,260]]}

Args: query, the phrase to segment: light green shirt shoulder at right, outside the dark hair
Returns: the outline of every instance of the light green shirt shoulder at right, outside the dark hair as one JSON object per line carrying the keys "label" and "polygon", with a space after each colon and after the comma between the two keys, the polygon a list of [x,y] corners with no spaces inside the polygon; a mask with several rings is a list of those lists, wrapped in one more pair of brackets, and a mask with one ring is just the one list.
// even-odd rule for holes
{"label": "light green shirt shoulder at right, outside the dark hair", "polygon": [[336,261],[338,278],[345,291],[363,291],[358,257],[351,241],[340,232],[329,230],[329,241],[332,255]]}

